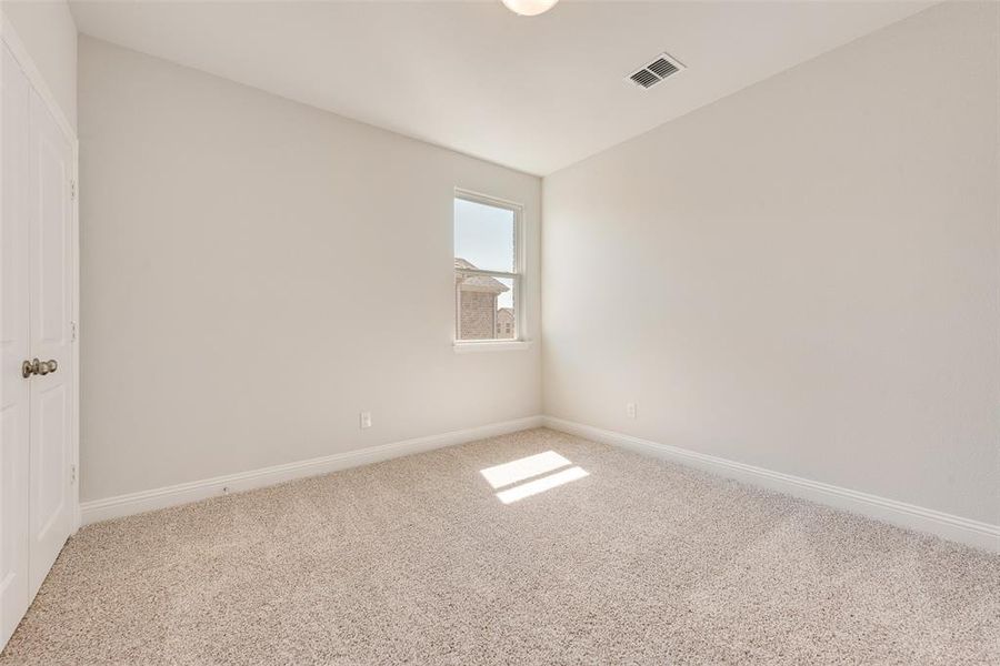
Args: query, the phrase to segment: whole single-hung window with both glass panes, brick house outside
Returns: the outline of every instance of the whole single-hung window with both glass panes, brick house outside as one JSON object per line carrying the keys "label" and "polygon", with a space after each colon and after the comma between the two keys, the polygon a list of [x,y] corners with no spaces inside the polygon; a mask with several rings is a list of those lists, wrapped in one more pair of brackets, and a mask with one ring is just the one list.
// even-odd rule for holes
{"label": "whole single-hung window with both glass panes, brick house outside", "polygon": [[456,192],[456,341],[519,336],[520,228],[521,206]]}

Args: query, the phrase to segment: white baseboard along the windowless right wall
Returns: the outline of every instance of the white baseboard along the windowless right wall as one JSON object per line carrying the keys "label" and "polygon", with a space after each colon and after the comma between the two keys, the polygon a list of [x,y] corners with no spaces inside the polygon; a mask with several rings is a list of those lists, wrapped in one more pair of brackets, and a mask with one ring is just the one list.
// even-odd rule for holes
{"label": "white baseboard along the windowless right wall", "polygon": [[736,478],[752,485],[778,491],[803,500],[851,511],[863,516],[884,521],[900,527],[917,529],[970,546],[1000,553],[1000,525],[990,525],[960,516],[946,514],[896,500],[869,495],[849,488],[772,472],[713,455],[659,444],[612,431],[573,423],[553,416],[543,418],[546,427],[569,433],[612,446],[667,458],[682,465]]}

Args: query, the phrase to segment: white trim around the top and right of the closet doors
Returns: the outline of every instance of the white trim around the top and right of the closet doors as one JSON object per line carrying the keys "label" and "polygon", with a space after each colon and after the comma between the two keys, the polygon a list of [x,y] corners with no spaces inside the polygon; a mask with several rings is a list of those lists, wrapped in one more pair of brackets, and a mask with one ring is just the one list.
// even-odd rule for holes
{"label": "white trim around the top and right of the closet doors", "polygon": [[74,336],[73,336],[73,385],[71,395],[73,398],[72,412],[72,441],[70,444],[70,458],[73,468],[77,471],[76,483],[70,491],[70,501],[72,503],[73,513],[73,532],[80,527],[80,140],[73,125],[70,124],[62,108],[56,101],[52,89],[42,77],[41,70],[34,64],[34,60],[28,53],[24,42],[18,36],[14,27],[3,13],[3,7],[0,6],[0,40],[7,44],[11,54],[21,67],[21,71],[28,78],[28,82],[38,93],[42,103],[48,108],[56,124],[70,142],[73,150],[73,219],[71,224],[72,233],[72,254],[73,254],[73,314]]}

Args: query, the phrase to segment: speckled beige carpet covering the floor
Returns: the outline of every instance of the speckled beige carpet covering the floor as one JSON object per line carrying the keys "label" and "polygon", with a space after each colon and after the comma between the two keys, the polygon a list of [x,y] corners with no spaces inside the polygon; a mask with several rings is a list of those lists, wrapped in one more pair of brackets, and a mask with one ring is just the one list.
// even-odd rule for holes
{"label": "speckled beige carpet covering the floor", "polygon": [[0,657],[402,663],[996,665],[1000,557],[539,430],[87,527]]}

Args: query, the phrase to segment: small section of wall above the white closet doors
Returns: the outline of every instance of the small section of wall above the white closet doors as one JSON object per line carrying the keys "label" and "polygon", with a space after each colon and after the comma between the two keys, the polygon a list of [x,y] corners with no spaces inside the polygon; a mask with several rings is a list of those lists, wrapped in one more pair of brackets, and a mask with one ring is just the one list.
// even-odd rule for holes
{"label": "small section of wall above the white closet doors", "polygon": [[62,113],[77,128],[77,24],[64,0],[4,0],[0,11],[41,72]]}

